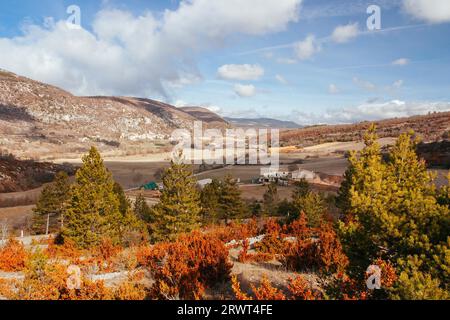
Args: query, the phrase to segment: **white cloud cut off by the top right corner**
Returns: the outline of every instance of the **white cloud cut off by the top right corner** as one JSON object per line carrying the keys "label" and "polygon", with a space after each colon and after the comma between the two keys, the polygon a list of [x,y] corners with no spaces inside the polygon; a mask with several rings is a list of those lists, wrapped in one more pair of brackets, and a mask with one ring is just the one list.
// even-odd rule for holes
{"label": "white cloud cut off by the top right corner", "polygon": [[403,9],[418,20],[429,23],[450,22],[448,0],[403,0]]}

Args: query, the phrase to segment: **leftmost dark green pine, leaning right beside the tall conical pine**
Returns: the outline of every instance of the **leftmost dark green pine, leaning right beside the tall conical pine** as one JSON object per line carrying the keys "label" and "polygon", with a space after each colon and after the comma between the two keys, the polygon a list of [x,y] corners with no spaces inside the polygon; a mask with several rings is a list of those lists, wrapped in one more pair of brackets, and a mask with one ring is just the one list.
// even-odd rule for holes
{"label": "leftmost dark green pine, leaning right beside the tall conical pine", "polygon": [[44,234],[47,231],[47,219],[49,233],[61,229],[63,212],[69,199],[69,191],[69,177],[65,172],[59,172],[55,181],[44,187],[36,207],[33,209],[32,229],[35,234]]}

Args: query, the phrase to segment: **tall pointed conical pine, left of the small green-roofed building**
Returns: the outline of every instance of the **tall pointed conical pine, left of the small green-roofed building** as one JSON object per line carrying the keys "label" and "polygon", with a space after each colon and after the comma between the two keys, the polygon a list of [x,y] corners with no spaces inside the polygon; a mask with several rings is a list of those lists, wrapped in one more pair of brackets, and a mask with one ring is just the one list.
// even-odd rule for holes
{"label": "tall pointed conical pine, left of the small green-roofed building", "polygon": [[120,242],[123,215],[119,206],[112,175],[97,149],[92,147],[76,173],[65,214],[63,238],[71,239],[83,248],[98,245],[103,238]]}

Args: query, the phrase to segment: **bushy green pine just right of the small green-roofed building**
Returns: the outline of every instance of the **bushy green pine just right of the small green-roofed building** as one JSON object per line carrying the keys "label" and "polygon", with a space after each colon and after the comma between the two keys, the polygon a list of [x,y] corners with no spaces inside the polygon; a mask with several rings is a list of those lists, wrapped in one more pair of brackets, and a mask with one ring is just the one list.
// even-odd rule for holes
{"label": "bushy green pine just right of the small green-roofed building", "polygon": [[192,171],[182,163],[172,161],[162,182],[160,203],[152,210],[155,223],[151,236],[155,241],[171,241],[199,226],[200,194]]}

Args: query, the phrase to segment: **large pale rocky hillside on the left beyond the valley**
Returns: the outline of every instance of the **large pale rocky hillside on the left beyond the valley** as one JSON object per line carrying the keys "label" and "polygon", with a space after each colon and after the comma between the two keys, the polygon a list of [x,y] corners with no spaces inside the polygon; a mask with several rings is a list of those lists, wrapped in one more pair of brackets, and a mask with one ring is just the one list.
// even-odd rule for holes
{"label": "large pale rocky hillside on the left beyond the valley", "polygon": [[77,97],[0,72],[0,149],[19,157],[79,155],[91,145],[116,155],[155,152],[173,130],[192,129],[196,120],[195,114],[150,99]]}

